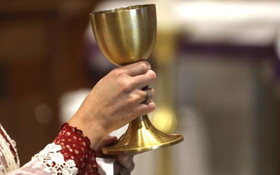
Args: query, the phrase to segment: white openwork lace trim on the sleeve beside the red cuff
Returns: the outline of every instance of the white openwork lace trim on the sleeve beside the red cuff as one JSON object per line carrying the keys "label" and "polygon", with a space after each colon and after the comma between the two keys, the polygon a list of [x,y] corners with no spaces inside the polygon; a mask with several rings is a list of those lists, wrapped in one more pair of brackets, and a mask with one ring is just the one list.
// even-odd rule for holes
{"label": "white openwork lace trim on the sleeve beside the red cuff", "polygon": [[60,145],[56,145],[54,143],[50,143],[45,146],[43,150],[39,153],[35,154],[32,157],[32,161],[35,161],[35,164],[32,168],[44,166],[44,171],[54,175],[75,175],[78,172],[78,168],[76,168],[76,164],[73,160],[69,159],[64,161],[63,155],[58,152],[61,150]]}

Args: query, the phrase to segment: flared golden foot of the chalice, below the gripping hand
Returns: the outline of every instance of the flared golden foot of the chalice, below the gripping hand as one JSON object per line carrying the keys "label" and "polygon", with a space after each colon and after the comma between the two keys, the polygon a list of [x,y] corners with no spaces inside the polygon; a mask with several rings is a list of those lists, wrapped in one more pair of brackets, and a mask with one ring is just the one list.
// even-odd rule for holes
{"label": "flared golden foot of the chalice, below the gripping hand", "polygon": [[148,119],[142,115],[131,121],[126,132],[115,144],[102,148],[106,154],[130,153],[137,154],[151,149],[170,146],[183,140],[180,134],[166,134],[156,129]]}

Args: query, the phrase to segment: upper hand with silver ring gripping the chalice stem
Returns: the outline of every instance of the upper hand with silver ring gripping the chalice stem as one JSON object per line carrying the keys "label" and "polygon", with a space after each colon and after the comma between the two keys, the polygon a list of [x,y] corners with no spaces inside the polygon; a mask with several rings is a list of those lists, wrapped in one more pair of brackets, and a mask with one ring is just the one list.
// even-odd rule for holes
{"label": "upper hand with silver ring gripping the chalice stem", "polygon": [[[113,69],[96,83],[68,121],[83,131],[93,149],[111,131],[154,110],[154,102],[141,103],[146,99],[142,88],[156,78],[150,68],[147,61],[139,61]],[[154,96],[154,90],[149,90]]]}

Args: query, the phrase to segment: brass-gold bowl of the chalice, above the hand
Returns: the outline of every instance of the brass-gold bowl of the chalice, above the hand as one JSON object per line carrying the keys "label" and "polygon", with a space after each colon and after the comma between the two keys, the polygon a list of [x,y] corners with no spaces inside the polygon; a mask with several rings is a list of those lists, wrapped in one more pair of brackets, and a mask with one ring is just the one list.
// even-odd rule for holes
{"label": "brass-gold bowl of the chalice, above the hand", "polygon": [[156,38],[154,4],[134,5],[90,13],[95,40],[116,65],[145,60]]}

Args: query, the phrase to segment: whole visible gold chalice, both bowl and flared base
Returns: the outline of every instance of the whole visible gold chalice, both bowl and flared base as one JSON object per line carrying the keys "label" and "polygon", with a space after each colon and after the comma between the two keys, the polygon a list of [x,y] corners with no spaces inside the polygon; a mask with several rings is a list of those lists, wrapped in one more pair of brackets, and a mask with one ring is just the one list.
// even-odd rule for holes
{"label": "whole visible gold chalice, both bowl and flared base", "polygon": [[[125,65],[146,60],[156,39],[155,4],[113,8],[90,13],[96,43],[113,64]],[[106,154],[131,153],[157,149],[183,140],[180,134],[156,129],[147,115],[129,122],[126,132],[115,144],[103,147]]]}

